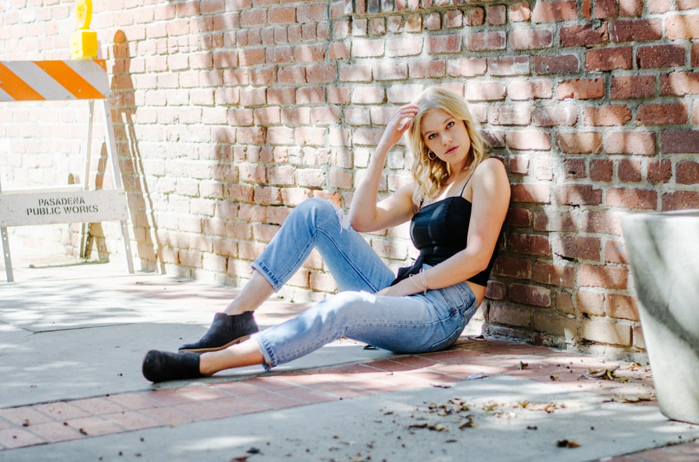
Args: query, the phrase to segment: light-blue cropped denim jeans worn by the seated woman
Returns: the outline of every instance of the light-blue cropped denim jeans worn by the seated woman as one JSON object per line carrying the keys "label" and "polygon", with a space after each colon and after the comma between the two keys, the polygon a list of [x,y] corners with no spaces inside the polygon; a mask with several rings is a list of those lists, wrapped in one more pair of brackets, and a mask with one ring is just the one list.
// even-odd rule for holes
{"label": "light-blue cropped denim jeans worn by the seated woman", "polygon": [[466,282],[409,297],[374,295],[396,276],[347,218],[322,199],[296,207],[252,267],[277,291],[314,247],[342,292],[255,334],[267,367],[343,336],[394,352],[442,350],[459,338],[478,308]]}

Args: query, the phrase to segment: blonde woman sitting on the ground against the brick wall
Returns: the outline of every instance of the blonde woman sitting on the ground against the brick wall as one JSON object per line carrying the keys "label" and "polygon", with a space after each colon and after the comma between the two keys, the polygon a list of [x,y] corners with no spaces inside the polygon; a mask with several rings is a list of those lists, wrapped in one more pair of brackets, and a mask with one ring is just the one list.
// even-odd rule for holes
{"label": "blonde woman sitting on the ground against the brick wall", "polygon": [[[386,156],[406,131],[415,156],[413,181],[378,202]],[[352,199],[349,223],[325,200],[300,204],[207,333],[178,353],[151,350],[143,375],[161,382],[254,364],[271,368],[343,336],[394,352],[452,345],[485,295],[510,202],[505,167],[486,158],[486,150],[463,98],[427,89],[388,121]],[[406,221],[420,255],[396,278],[359,232]],[[289,280],[312,248],[342,292],[258,331],[252,311]]]}

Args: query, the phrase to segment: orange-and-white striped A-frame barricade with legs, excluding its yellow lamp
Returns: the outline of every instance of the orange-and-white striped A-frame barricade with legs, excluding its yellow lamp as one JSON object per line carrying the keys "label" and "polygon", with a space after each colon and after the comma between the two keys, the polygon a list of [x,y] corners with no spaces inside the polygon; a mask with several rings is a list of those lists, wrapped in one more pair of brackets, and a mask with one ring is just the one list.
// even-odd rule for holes
{"label": "orange-and-white striped A-frame barricade with legs, excluding its yellow lamp", "polygon": [[[127,219],[129,210],[117,163],[110,109],[109,80],[103,59],[0,61],[0,101],[87,100],[89,123],[82,185],[3,191],[0,185],[0,233],[7,281],[14,281],[7,228],[54,223],[120,221],[127,271],[134,272]],[[113,188],[88,188],[94,102],[101,103],[105,144]]]}

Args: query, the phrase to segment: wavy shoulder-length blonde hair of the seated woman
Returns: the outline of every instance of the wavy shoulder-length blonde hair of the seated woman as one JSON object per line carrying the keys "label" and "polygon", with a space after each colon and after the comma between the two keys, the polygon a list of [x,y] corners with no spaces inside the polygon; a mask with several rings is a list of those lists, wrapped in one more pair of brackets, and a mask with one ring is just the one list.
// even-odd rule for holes
{"label": "wavy shoulder-length blonde hair of the seated woman", "polygon": [[433,109],[441,109],[448,112],[455,119],[463,121],[466,125],[466,131],[471,141],[469,150],[470,163],[464,167],[471,172],[475,167],[483,161],[489,145],[475,128],[475,122],[471,116],[466,101],[453,91],[441,88],[430,87],[420,94],[414,101],[417,105],[417,114],[412,120],[412,125],[408,129],[408,147],[414,158],[412,169],[410,170],[412,178],[415,180],[415,191],[412,194],[412,201],[415,204],[420,204],[425,198],[434,199],[439,194],[440,187],[449,178],[449,165],[440,158],[431,159],[429,149],[420,133],[420,124],[422,117]]}

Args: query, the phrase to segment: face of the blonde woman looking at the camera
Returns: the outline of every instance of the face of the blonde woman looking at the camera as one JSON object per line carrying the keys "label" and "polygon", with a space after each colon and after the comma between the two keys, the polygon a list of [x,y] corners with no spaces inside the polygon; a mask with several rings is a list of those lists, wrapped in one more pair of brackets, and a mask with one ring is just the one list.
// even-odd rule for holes
{"label": "face of the blonde woman looking at the camera", "polygon": [[466,165],[471,139],[462,120],[455,119],[445,110],[431,109],[420,121],[420,133],[427,149],[457,169],[452,171],[461,170]]}

